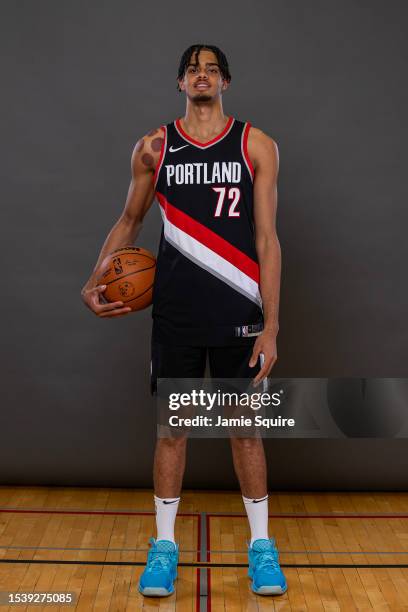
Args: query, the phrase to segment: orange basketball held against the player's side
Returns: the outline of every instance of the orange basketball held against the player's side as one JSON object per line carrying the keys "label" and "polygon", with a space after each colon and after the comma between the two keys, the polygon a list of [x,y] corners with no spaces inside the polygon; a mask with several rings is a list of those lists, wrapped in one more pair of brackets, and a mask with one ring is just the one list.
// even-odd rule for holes
{"label": "orange basketball held against the player's side", "polygon": [[132,311],[152,303],[156,258],[140,247],[126,246],[112,251],[100,267],[99,285],[106,285],[108,302],[122,301]]}

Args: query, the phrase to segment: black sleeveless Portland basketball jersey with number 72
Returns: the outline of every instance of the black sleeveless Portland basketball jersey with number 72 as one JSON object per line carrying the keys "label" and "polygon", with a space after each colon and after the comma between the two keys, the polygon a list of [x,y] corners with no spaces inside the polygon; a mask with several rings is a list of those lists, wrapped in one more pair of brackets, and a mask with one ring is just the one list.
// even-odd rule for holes
{"label": "black sleeveless Portland basketball jersey with number 72", "polygon": [[152,309],[159,342],[228,346],[263,329],[249,128],[229,117],[203,144],[179,119],[163,126],[153,179],[163,218]]}

